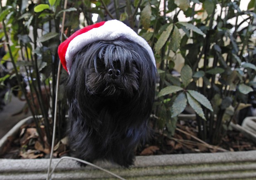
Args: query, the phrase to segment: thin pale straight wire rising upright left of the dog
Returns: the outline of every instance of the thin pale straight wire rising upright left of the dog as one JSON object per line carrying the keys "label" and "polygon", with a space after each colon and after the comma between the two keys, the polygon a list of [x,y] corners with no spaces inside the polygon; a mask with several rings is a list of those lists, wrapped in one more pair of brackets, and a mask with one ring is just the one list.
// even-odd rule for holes
{"label": "thin pale straight wire rising upright left of the dog", "polygon": [[[67,0],[65,0],[64,2],[64,9],[66,9],[66,5],[67,5]],[[62,42],[62,36],[63,36],[63,32],[64,32],[64,22],[65,22],[65,16],[66,16],[66,12],[63,12],[63,16],[62,16],[62,28],[61,28],[61,42]],[[52,132],[52,148],[51,148],[51,153],[50,153],[50,159],[49,159],[49,165],[48,165],[48,169],[47,169],[47,177],[46,180],[49,179],[49,173],[50,173],[50,169],[51,169],[51,164],[52,164],[52,154],[53,154],[53,149],[54,149],[54,141],[55,141],[55,132],[56,132],[56,117],[57,117],[57,101],[58,101],[58,91],[59,91],[59,76],[60,76],[60,69],[61,69],[61,63],[59,62],[59,66],[58,66],[58,74],[57,74],[57,85],[56,85],[56,96],[55,96],[55,111],[54,111],[54,121],[53,121],[53,132]]]}

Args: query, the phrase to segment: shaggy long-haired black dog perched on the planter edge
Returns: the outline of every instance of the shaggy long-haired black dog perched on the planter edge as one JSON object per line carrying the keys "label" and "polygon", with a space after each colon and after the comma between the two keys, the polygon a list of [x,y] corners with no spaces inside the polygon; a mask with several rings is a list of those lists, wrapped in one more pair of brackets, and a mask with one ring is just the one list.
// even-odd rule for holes
{"label": "shaggy long-haired black dog perched on the planter edge", "polygon": [[136,146],[149,135],[155,80],[147,51],[128,39],[97,41],[79,51],[66,87],[75,157],[132,165]]}

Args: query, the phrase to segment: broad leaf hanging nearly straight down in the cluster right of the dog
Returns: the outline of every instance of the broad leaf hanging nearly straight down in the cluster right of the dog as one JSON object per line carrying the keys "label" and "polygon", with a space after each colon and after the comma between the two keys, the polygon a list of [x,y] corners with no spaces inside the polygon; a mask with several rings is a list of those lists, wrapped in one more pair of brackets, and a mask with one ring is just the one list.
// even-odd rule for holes
{"label": "broad leaf hanging nearly straight down in the cluster right of the dog", "polygon": [[171,108],[171,117],[175,117],[182,113],[187,105],[187,98],[184,92],[180,93],[174,100]]}

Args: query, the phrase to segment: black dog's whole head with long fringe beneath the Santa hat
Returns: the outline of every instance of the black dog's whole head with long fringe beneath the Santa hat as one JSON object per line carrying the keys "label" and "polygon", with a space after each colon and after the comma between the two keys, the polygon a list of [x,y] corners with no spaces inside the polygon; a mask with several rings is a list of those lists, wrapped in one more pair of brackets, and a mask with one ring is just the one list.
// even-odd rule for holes
{"label": "black dog's whole head with long fringe beneath the Santa hat", "polygon": [[77,89],[111,99],[132,98],[140,94],[141,86],[148,86],[146,81],[153,85],[155,78],[145,49],[122,38],[86,46],[75,56],[71,68]]}

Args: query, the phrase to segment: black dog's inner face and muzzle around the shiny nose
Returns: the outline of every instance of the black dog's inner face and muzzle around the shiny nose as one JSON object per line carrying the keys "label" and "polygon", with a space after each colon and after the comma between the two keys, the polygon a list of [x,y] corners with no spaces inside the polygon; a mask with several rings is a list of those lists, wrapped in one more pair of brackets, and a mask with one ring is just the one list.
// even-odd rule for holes
{"label": "black dog's inner face and muzzle around the shiny nose", "polygon": [[[112,48],[111,46],[113,45],[106,48]],[[118,51],[117,48],[114,51]],[[136,62],[134,60],[125,61],[117,54],[114,57],[108,57],[109,59],[104,59],[105,57],[105,55],[99,55],[96,65],[91,64],[90,73],[86,79],[90,93],[111,98],[133,97],[139,90],[140,69]]]}

